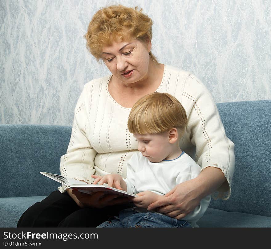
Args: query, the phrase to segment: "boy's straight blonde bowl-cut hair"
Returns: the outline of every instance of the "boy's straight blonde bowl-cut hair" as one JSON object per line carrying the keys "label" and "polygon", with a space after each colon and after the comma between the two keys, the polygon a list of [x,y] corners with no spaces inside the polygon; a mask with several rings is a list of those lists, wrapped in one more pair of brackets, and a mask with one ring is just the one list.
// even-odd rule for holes
{"label": "boy's straight blonde bowl-cut hair", "polygon": [[177,128],[182,137],[187,125],[184,107],[168,93],[151,93],[139,99],[132,107],[128,129],[131,133],[154,134]]}

